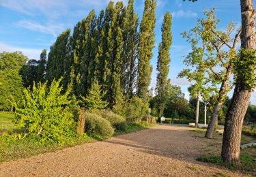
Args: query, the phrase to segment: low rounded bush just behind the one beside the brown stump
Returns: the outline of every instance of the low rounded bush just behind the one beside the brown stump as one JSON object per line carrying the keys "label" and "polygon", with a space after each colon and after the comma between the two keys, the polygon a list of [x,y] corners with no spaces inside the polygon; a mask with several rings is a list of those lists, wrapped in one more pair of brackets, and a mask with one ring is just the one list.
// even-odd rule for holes
{"label": "low rounded bush just behind the one beside the brown stump", "polygon": [[126,119],[118,114],[115,114],[109,110],[100,110],[100,115],[106,120],[109,120],[111,125],[119,130],[119,131],[126,131],[127,130],[127,123]]}

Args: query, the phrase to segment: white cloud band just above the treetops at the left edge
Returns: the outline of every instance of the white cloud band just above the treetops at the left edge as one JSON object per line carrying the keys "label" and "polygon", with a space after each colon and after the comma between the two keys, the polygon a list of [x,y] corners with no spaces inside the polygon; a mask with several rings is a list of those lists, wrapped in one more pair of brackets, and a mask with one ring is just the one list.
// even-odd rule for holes
{"label": "white cloud band just above the treetops at the left edge", "polygon": [[4,44],[0,42],[0,52],[16,52],[20,51],[29,59],[39,59],[42,50],[35,48],[19,48],[16,46],[10,46],[8,44]]}

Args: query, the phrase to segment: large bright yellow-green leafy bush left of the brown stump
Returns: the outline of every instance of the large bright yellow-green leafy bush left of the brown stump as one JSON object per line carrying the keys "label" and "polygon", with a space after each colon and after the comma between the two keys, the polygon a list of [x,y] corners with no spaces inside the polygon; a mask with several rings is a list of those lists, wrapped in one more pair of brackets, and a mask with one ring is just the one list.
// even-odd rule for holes
{"label": "large bright yellow-green leafy bush left of the brown stump", "polygon": [[61,79],[53,80],[51,86],[46,83],[33,84],[32,91],[24,90],[23,104],[16,108],[15,119],[19,127],[27,129],[29,134],[40,142],[63,142],[72,131],[74,120],[70,110],[70,91],[61,94]]}

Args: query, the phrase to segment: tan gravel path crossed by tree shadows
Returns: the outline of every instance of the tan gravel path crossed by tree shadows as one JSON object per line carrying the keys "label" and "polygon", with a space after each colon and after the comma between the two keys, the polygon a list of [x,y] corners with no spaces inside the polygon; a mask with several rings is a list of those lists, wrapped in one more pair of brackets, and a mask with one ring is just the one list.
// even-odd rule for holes
{"label": "tan gravel path crossed by tree shadows", "polygon": [[208,146],[187,127],[156,127],[102,142],[0,163],[0,176],[214,176],[225,172],[195,161]]}

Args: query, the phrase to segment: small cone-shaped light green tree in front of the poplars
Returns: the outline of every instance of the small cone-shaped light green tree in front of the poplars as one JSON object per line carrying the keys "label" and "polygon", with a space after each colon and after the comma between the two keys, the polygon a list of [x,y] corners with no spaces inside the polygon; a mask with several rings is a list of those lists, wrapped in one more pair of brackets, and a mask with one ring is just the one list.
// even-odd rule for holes
{"label": "small cone-shaped light green tree in front of the poplars", "polygon": [[81,97],[83,101],[83,106],[88,110],[91,109],[104,109],[108,105],[106,101],[103,101],[102,98],[106,95],[106,92],[102,92],[101,86],[98,84],[98,80],[95,80],[91,84],[91,89],[87,97]]}

